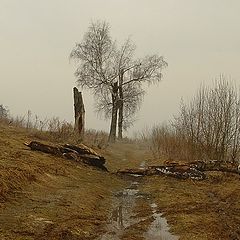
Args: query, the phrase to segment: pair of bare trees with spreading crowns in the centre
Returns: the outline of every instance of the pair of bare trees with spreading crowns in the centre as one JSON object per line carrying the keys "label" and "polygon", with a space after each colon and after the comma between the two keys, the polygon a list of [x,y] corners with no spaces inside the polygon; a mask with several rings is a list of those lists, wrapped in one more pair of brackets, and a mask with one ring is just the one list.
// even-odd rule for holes
{"label": "pair of bare trees with spreading crowns in the centre", "polygon": [[159,82],[161,71],[167,66],[158,55],[134,60],[134,51],[129,39],[118,49],[109,35],[108,24],[98,21],[90,25],[70,55],[79,61],[75,72],[78,84],[93,91],[99,101],[98,110],[111,118],[109,141],[116,140],[117,121],[122,138],[124,124],[126,127],[142,101],[142,83]]}

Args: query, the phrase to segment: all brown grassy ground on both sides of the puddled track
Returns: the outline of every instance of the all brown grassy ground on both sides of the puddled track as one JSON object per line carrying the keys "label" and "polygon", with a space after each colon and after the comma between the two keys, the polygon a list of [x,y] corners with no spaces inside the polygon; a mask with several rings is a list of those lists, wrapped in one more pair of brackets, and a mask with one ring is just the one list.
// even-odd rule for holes
{"label": "all brown grassy ground on both sides of the puddled track", "polygon": [[[30,151],[23,142],[33,139],[24,130],[0,125],[0,239],[94,239],[104,231],[112,192],[126,181]],[[141,145],[117,144],[102,153],[113,172],[149,159]],[[220,173],[202,182],[144,178],[140,188],[151,200],[139,199],[134,212],[147,220],[126,229],[122,239],[144,239],[151,202],[181,239],[239,239],[239,180]]]}

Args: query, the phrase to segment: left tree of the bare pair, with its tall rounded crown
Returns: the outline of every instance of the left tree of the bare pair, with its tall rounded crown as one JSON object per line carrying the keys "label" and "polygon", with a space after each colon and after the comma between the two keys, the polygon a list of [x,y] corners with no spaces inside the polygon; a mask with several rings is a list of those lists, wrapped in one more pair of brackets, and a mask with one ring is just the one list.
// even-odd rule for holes
{"label": "left tree of the bare pair, with its tall rounded crown", "polygon": [[81,43],[76,44],[70,58],[79,63],[75,76],[80,87],[93,91],[95,96],[111,93],[110,135],[116,135],[118,73],[114,63],[115,44],[109,35],[109,26],[105,22],[95,22],[89,27]]}

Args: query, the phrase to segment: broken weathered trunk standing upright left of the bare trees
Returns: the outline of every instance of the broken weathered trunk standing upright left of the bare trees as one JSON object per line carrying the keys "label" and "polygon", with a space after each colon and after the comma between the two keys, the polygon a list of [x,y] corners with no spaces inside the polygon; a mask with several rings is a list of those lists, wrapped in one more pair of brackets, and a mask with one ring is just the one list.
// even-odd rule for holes
{"label": "broken weathered trunk standing upright left of the bare trees", "polygon": [[75,112],[75,131],[79,134],[80,138],[84,137],[85,129],[85,108],[82,98],[82,93],[76,87],[73,88],[74,97],[74,112]]}

